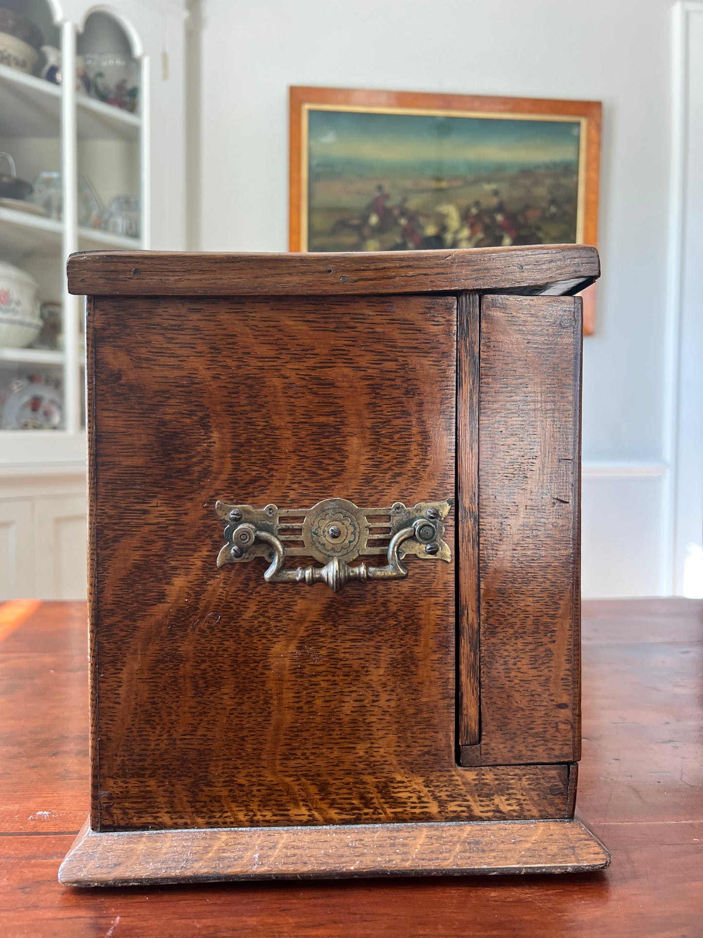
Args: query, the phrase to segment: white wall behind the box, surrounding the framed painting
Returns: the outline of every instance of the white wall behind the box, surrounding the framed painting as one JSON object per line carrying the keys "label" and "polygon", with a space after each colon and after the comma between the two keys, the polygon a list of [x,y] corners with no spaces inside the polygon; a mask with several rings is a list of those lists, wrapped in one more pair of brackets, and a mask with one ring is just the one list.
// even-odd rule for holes
{"label": "white wall behind the box, surrounding the framed painting", "polygon": [[287,250],[290,84],[603,101],[604,276],[584,356],[591,597],[670,589],[670,10],[670,0],[202,0],[194,16],[190,230],[203,250]]}

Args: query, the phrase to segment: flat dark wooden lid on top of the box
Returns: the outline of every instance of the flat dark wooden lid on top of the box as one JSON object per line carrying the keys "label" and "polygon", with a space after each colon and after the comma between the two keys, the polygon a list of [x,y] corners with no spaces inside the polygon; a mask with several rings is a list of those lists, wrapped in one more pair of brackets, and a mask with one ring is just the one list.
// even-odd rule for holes
{"label": "flat dark wooden lid on top of the box", "polygon": [[[174,257],[178,273],[174,275]],[[600,276],[586,245],[370,253],[217,254],[84,251],[68,258],[70,293],[115,296],[359,295],[512,290],[576,293]]]}

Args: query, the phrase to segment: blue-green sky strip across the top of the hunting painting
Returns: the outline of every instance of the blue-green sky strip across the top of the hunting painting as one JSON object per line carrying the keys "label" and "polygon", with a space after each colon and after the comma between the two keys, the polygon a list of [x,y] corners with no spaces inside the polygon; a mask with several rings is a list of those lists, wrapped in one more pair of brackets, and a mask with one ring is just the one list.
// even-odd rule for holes
{"label": "blue-green sky strip across the top of the hunting painting", "polygon": [[577,165],[579,131],[577,121],[311,110],[308,142],[313,162],[440,158]]}

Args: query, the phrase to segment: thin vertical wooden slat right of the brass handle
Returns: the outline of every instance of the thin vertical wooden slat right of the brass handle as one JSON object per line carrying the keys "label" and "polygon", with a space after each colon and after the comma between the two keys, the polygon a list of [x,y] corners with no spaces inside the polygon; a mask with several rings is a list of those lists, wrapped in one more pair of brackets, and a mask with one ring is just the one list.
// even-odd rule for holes
{"label": "thin vertical wooden slat right of the brass handle", "polygon": [[[456,310],[456,502],[458,519],[458,732],[459,747],[481,739],[478,588],[478,391],[480,301],[460,294]],[[471,764],[471,753],[461,752]]]}

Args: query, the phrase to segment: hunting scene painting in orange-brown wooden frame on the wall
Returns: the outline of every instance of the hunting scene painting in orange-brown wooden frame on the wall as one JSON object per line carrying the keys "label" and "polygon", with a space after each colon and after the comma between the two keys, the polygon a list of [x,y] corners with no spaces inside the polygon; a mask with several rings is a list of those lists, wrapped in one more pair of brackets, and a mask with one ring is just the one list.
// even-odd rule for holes
{"label": "hunting scene painting in orange-brown wooden frame on the wall", "polygon": [[599,101],[290,92],[290,250],[596,245]]}

